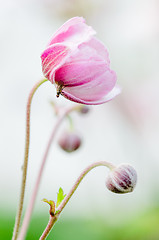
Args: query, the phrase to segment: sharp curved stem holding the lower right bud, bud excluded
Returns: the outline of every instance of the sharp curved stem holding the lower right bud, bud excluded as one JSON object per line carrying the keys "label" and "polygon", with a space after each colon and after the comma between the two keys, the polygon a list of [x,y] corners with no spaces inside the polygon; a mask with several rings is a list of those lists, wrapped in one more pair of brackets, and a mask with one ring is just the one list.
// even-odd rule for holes
{"label": "sharp curved stem holding the lower right bud, bud excluded", "polygon": [[60,213],[62,212],[62,210],[64,209],[64,207],[66,206],[66,204],[68,203],[68,201],[70,200],[70,198],[72,197],[72,195],[74,194],[74,192],[76,191],[77,187],[79,186],[79,184],[81,183],[82,179],[87,175],[88,172],[90,172],[93,168],[99,167],[99,166],[105,166],[107,168],[109,168],[110,170],[112,170],[113,168],[115,168],[115,166],[109,162],[105,162],[105,161],[100,161],[100,162],[95,162],[92,163],[91,165],[89,165],[87,168],[85,168],[83,170],[83,172],[80,174],[80,176],[77,178],[76,182],[74,183],[73,187],[71,188],[71,190],[69,191],[69,193],[66,195],[66,197],[64,198],[64,200],[62,201],[62,203],[59,205],[59,207],[56,210],[56,213],[54,216],[50,215],[50,220],[48,222],[47,227],[45,228],[43,234],[40,237],[40,240],[44,240],[46,239],[46,237],[48,236],[48,234],[50,233],[54,223],[56,222],[56,220],[58,219]]}

